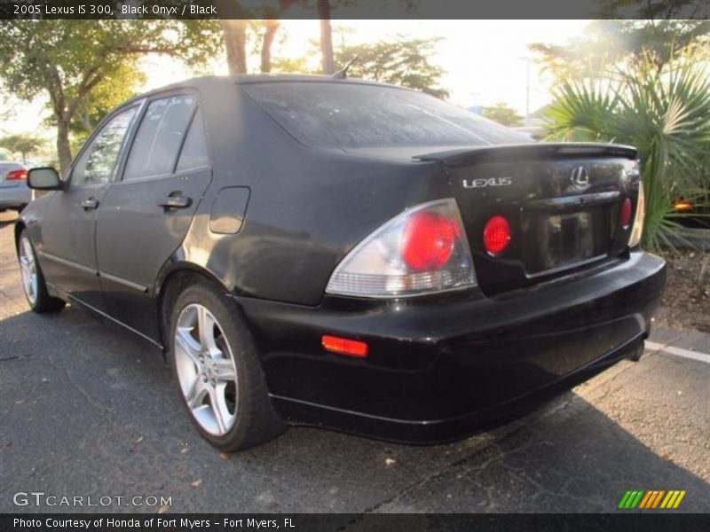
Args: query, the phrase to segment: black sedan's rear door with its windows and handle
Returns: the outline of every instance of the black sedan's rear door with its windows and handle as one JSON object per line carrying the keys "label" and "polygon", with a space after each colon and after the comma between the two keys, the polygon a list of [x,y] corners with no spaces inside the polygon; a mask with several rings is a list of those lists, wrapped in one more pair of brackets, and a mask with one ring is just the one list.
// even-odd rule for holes
{"label": "black sedan's rear door with its windows and handle", "polygon": [[109,315],[158,340],[154,282],[185,239],[212,176],[197,95],[148,101],[130,144],[122,178],[99,212],[99,271]]}

